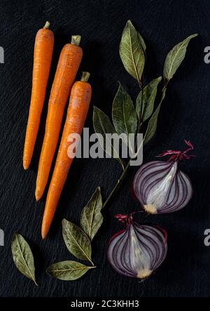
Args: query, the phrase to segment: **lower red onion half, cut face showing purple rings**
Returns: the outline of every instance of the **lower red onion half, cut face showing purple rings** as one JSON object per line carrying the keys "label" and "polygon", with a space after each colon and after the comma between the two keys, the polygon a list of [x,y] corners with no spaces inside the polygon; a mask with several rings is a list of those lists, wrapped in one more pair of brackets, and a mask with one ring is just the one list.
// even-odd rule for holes
{"label": "lower red onion half, cut face showing purple rings", "polygon": [[146,279],[165,260],[167,233],[159,226],[140,225],[130,216],[116,215],[125,228],[109,242],[107,257],[116,272]]}

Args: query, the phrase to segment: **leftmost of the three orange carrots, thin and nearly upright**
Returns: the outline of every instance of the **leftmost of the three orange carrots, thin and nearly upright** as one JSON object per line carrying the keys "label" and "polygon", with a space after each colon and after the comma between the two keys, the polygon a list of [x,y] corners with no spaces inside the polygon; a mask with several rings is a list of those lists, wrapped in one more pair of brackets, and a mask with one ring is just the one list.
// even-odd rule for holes
{"label": "leftmost of the three orange carrots, thin and nearly upright", "polygon": [[25,169],[29,168],[31,157],[34,152],[36,135],[38,133],[41,111],[48,84],[54,45],[54,34],[50,29],[48,29],[49,26],[50,23],[46,22],[45,26],[38,30],[35,39],[31,104],[22,159],[23,167]]}

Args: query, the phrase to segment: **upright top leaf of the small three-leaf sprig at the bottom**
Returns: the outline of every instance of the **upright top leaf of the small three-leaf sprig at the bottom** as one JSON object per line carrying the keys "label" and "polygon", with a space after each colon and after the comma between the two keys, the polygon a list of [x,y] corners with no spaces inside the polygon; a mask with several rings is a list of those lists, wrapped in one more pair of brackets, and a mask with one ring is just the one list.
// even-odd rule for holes
{"label": "upright top leaf of the small three-leaf sprig at the bottom", "polygon": [[91,240],[103,223],[102,207],[102,194],[100,187],[98,187],[80,216],[80,227]]}

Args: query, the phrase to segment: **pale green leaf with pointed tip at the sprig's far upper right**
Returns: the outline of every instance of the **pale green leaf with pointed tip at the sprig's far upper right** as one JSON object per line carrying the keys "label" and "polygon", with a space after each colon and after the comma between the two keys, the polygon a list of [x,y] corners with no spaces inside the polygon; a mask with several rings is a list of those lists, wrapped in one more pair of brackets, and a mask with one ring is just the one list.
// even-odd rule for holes
{"label": "pale green leaf with pointed tip at the sprig's far upper right", "polygon": [[190,40],[195,37],[197,37],[197,34],[191,34],[191,36],[181,41],[179,44],[176,44],[176,46],[174,46],[174,48],[168,53],[163,68],[165,84],[167,84],[167,82],[174,76],[176,70],[185,58],[186,48],[188,47]]}

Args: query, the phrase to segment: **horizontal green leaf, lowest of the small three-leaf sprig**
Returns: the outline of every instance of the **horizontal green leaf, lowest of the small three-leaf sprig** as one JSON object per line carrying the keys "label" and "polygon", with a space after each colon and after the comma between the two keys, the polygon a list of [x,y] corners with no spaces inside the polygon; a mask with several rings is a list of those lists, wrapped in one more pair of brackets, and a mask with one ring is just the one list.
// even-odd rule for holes
{"label": "horizontal green leaf, lowest of the small three-leaf sprig", "polygon": [[48,267],[46,272],[51,277],[56,279],[62,279],[62,281],[73,281],[82,277],[88,270],[94,267],[88,267],[83,263],[78,263],[73,260],[60,261],[59,263],[53,263]]}

